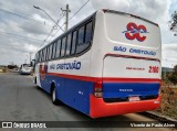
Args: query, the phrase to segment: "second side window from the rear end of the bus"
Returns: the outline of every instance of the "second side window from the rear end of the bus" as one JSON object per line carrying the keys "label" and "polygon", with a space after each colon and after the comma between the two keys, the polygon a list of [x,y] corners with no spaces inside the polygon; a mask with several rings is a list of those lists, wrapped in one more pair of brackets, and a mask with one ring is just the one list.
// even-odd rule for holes
{"label": "second side window from the rear end of the bus", "polygon": [[80,53],[84,50],[84,29],[85,26],[79,29],[79,42],[76,45],[76,53]]}

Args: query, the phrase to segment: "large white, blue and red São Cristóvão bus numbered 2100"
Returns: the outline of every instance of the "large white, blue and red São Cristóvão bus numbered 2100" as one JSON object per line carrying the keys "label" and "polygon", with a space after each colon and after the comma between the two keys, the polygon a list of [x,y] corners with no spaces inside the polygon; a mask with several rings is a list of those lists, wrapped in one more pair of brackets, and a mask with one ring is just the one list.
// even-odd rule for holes
{"label": "large white, blue and red S\u00e3o Crist\u00f3v\u00e3o bus numbered 2100", "polygon": [[160,105],[159,26],[98,10],[35,55],[35,84],[92,117],[157,109]]}

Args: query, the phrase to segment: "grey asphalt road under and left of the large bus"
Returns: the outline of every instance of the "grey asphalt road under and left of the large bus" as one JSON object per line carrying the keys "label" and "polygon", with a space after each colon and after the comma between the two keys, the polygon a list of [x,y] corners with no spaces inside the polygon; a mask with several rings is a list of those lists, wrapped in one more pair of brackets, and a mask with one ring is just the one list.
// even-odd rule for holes
{"label": "grey asphalt road under and left of the large bus", "polygon": [[[65,106],[54,106],[50,96],[32,83],[32,76],[18,73],[0,74],[0,120],[1,121],[155,121],[147,117],[129,113],[124,116],[91,119]],[[108,124],[108,123],[107,123]],[[37,130],[37,129],[29,129]],[[43,130],[43,129],[42,129]],[[113,130],[113,131],[169,131],[167,128],[62,128],[45,130]]]}

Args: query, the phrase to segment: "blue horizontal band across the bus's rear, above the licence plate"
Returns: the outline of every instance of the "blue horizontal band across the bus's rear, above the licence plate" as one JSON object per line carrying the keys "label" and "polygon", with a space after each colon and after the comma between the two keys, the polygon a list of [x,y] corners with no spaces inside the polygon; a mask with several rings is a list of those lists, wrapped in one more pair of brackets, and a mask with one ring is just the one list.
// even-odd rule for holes
{"label": "blue horizontal band across the bus's rear, above the licence plate", "polygon": [[144,83],[104,83],[103,98],[158,95],[159,84]]}

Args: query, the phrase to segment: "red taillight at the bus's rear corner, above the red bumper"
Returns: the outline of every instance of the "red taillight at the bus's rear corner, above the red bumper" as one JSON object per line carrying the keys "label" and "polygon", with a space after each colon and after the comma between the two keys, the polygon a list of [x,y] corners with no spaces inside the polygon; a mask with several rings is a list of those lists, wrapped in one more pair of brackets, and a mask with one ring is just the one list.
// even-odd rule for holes
{"label": "red taillight at the bus's rear corner, above the red bumper", "polygon": [[102,97],[103,92],[102,92],[102,81],[96,81],[94,85],[94,96],[95,97]]}

